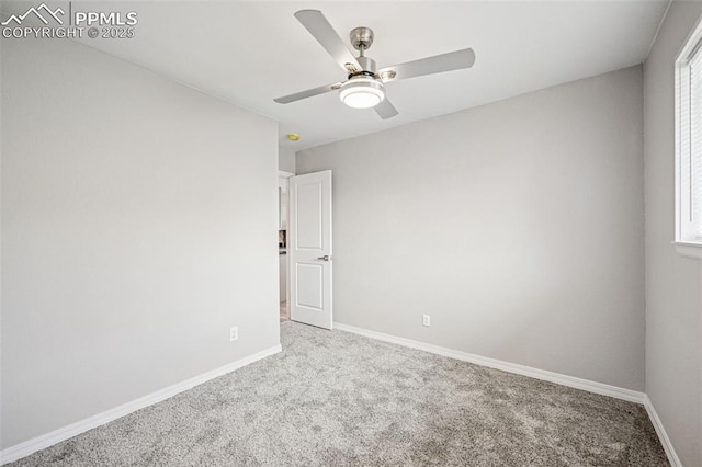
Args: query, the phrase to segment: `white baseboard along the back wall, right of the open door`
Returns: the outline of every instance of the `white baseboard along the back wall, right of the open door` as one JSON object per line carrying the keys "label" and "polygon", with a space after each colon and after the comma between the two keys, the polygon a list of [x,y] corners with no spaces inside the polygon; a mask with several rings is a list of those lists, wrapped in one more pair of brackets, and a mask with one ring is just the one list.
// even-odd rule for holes
{"label": "white baseboard along the back wall, right of the open door", "polygon": [[614,397],[616,399],[627,400],[630,402],[644,403],[645,394],[631,389],[624,389],[616,386],[605,385],[603,383],[591,381],[588,379],[576,378],[575,376],[562,375],[559,373],[546,372],[545,369],[533,368],[531,366],[518,365],[516,363],[505,362],[501,360],[489,358],[467,352],[455,351],[424,342],[412,341],[410,339],[397,338],[395,335],[383,334],[381,332],[370,331],[367,329],[355,328],[353,326],[333,323],[333,329],[340,331],[353,332],[354,334],[364,335],[380,341],[390,342],[410,349],[433,353],[437,355],[448,356],[450,358],[461,360],[464,362],[475,363],[477,365],[489,366],[490,368],[501,369],[503,372],[514,373],[522,376],[529,376],[545,381],[568,386],[576,389],[587,390],[589,392],[602,396]]}

